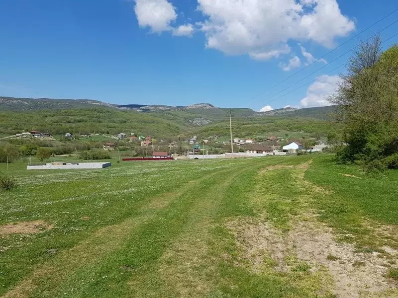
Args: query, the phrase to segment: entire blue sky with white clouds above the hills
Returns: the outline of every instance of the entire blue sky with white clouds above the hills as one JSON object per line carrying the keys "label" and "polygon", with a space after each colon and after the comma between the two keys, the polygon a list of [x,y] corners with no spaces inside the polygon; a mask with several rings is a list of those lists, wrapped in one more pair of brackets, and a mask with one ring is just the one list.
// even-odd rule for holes
{"label": "entire blue sky with white clouds above the hills", "polygon": [[[0,96],[327,105],[344,67],[330,71],[349,55],[330,62],[357,39],[268,89],[396,8],[396,0],[1,0]],[[360,37],[397,19],[398,12]],[[398,23],[382,36],[395,33]]]}

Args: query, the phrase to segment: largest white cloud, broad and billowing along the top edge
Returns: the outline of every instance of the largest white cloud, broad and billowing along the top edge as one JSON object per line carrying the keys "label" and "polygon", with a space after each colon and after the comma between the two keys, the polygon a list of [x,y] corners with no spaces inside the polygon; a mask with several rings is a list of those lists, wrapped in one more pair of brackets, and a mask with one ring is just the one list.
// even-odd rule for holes
{"label": "largest white cloud, broad and billowing along the top edge", "polygon": [[289,40],[331,47],[355,24],[336,0],[198,0],[206,47],[254,59],[278,57]]}

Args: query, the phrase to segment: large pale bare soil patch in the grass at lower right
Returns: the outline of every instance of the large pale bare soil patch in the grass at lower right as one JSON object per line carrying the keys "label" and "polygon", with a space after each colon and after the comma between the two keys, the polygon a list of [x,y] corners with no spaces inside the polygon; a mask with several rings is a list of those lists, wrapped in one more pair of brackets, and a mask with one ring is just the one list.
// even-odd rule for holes
{"label": "large pale bare soil patch in the grass at lower right", "polygon": [[[389,266],[385,256],[357,252],[353,244],[337,242],[332,229],[323,224],[297,222],[288,234],[267,222],[247,218],[229,222],[227,227],[235,235],[241,257],[254,272],[270,264],[276,271],[292,272],[304,261],[311,273],[332,277],[334,289],[327,283],[323,288],[337,297],[398,297],[397,283],[386,277]],[[297,261],[292,263],[292,258]]]}

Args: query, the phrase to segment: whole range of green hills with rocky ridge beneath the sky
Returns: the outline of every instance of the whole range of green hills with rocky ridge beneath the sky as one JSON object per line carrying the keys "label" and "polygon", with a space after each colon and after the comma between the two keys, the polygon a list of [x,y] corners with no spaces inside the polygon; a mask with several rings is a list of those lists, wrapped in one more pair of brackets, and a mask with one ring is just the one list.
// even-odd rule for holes
{"label": "whole range of green hills with rocky ridge beneath the sky", "polygon": [[279,109],[259,113],[249,108],[112,105],[95,100],[0,97],[0,135],[38,130],[53,135],[120,132],[156,138],[229,136],[229,112],[235,137],[295,135],[320,137],[335,127],[325,122],[335,107]]}

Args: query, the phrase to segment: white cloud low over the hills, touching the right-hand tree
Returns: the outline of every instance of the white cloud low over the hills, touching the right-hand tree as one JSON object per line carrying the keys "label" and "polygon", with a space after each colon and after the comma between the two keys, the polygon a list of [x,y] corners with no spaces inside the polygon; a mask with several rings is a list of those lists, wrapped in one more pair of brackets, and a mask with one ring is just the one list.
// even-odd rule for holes
{"label": "white cloud low over the hills, touching the right-hand tree", "polygon": [[308,87],[307,95],[300,100],[300,107],[310,108],[332,105],[328,101],[329,96],[333,95],[341,78],[338,75],[318,76],[313,84]]}

